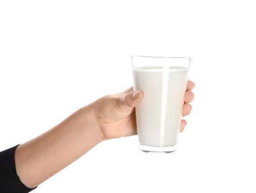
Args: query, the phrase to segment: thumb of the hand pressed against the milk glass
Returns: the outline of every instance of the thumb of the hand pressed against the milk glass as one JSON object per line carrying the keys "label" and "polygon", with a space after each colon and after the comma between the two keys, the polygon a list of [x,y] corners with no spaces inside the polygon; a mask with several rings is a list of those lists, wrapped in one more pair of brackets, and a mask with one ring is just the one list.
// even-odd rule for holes
{"label": "thumb of the hand pressed against the milk glass", "polygon": [[131,110],[137,105],[141,103],[141,101],[144,98],[144,91],[131,91],[127,94],[125,94],[120,99],[120,108],[126,110]]}

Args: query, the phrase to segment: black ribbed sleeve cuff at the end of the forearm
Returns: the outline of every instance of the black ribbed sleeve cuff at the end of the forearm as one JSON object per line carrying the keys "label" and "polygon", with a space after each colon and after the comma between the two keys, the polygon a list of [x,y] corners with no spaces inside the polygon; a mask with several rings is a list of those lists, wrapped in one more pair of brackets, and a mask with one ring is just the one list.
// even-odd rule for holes
{"label": "black ribbed sleeve cuff at the end of the forearm", "polygon": [[15,165],[15,150],[18,145],[0,152],[0,192],[26,193],[35,188],[27,188],[19,180]]}

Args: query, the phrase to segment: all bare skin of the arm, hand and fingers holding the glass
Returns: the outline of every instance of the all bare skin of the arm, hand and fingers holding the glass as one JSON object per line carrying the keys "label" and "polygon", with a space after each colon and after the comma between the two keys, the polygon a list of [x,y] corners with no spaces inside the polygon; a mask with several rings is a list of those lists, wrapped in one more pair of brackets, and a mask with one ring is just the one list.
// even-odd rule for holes
{"label": "all bare skin of the arm, hand and fingers holding the glass", "polygon": [[[182,116],[190,114],[194,87],[188,80]],[[104,140],[136,135],[134,107],[143,97],[143,91],[134,92],[132,87],[122,93],[103,96],[54,128],[19,145],[15,160],[20,180],[29,188],[37,187]],[[181,120],[180,132],[186,124]]]}

